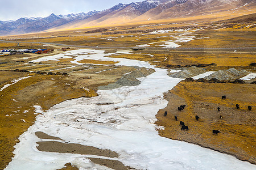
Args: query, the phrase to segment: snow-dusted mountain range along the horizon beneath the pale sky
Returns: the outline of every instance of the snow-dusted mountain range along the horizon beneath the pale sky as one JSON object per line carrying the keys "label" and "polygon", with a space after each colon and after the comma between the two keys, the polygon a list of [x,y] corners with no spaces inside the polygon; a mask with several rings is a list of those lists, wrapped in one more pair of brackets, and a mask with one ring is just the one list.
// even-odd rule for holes
{"label": "snow-dusted mountain range along the horizon beneath the pale sky", "polygon": [[46,18],[20,18],[0,21],[0,35],[16,35],[59,29],[85,28],[100,25],[147,22],[204,15],[253,14],[255,0],[146,0],[119,3],[102,11],[55,15]]}

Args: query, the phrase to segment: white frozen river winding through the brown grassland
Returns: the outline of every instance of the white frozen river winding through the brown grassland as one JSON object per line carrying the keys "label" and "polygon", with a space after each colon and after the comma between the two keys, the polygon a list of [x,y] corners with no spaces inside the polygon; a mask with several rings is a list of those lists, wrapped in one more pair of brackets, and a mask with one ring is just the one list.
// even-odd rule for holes
{"label": "white frozen river winding through the brown grassland", "polygon": [[[80,53],[79,59],[111,59],[119,61],[117,65],[154,68],[147,62],[104,57],[106,54],[102,50],[67,53]],[[48,59],[61,55],[64,56],[58,54]],[[80,169],[109,169],[95,165],[87,158],[115,159],[137,169],[256,169],[255,165],[233,156],[160,137],[156,128],[162,127],[154,124],[155,115],[167,105],[163,93],[181,79],[171,78],[165,69],[154,69],[155,73],[139,78],[141,84],[138,86],[99,90],[97,97],[67,100],[47,112],[35,107],[35,112],[43,114],[37,116],[35,124],[20,136],[15,157],[6,169],[57,169],[69,162]],[[41,152],[36,149],[36,142],[52,140],[37,138],[36,131],[64,140],[59,142],[109,149],[117,152],[119,157]]]}

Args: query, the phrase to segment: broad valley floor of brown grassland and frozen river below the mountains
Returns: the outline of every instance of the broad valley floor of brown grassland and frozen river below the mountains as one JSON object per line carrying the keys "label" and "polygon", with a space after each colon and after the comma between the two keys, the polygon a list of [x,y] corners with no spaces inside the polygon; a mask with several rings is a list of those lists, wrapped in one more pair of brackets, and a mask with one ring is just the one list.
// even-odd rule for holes
{"label": "broad valley floor of brown grassland and frozen river below the mountains", "polygon": [[[111,43],[109,37],[42,39],[92,48],[62,52],[48,44],[55,48],[51,54],[0,58],[0,169],[255,169],[255,84],[184,82],[167,75],[179,65],[210,63],[216,65],[207,71],[255,73],[254,31],[112,36]],[[252,48],[241,49],[240,42]],[[131,50],[140,45],[149,47]],[[162,48],[168,45],[184,48]],[[191,46],[197,49],[186,49]],[[225,50],[210,49],[220,46]],[[109,90],[99,90],[108,84]],[[181,131],[179,121],[189,130]],[[213,135],[213,129],[221,133]]]}

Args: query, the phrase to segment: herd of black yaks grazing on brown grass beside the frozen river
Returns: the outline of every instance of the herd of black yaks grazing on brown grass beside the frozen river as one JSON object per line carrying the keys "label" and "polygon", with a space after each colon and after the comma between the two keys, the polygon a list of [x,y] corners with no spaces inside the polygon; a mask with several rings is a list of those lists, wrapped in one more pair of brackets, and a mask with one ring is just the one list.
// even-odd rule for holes
{"label": "herd of black yaks grazing on brown grass beside the frozen river", "polygon": [[[222,99],[226,99],[226,96],[222,96]],[[185,109],[185,106],[186,105],[180,105],[180,107],[178,107],[178,110],[182,111],[183,109]],[[236,108],[240,109],[239,104],[236,104]],[[220,107],[218,107],[217,109],[218,109],[218,112],[220,112]],[[250,105],[248,106],[248,110],[251,111],[251,106]],[[164,112],[164,116],[167,116],[167,111]],[[174,118],[177,121],[177,116],[176,115],[174,116]],[[197,121],[199,120],[199,118],[200,117],[196,115],[196,120]],[[220,118],[221,119],[223,118],[221,116],[221,114],[220,114]],[[181,130],[188,130],[188,126],[186,126],[183,121],[180,121],[180,126],[181,126]],[[220,133],[220,130],[215,130],[215,129],[212,130],[212,134],[217,135],[218,133]]]}

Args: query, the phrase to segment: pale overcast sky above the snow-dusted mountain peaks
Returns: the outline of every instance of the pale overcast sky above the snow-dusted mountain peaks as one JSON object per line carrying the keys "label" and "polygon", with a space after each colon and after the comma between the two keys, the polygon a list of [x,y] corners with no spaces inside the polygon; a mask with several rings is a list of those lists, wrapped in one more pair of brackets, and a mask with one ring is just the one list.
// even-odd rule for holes
{"label": "pale overcast sky above the snow-dusted mountain peaks", "polygon": [[0,20],[17,20],[22,17],[46,17],[105,10],[118,3],[143,0],[0,0]]}

